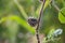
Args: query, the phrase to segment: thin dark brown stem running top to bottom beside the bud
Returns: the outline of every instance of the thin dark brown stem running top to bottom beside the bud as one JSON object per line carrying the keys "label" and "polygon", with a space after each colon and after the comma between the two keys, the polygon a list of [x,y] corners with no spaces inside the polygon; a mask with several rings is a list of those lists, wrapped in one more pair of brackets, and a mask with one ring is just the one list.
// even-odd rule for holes
{"label": "thin dark brown stem running top to bottom beside the bud", "polygon": [[43,4],[42,4],[41,11],[40,11],[40,15],[39,15],[39,19],[38,19],[38,25],[37,25],[37,28],[36,28],[36,37],[37,37],[38,43],[40,43],[40,38],[39,38],[39,24],[40,24],[41,15],[43,14],[44,3],[46,3],[46,0],[43,0]]}

